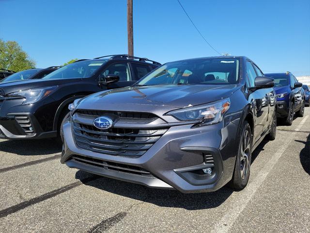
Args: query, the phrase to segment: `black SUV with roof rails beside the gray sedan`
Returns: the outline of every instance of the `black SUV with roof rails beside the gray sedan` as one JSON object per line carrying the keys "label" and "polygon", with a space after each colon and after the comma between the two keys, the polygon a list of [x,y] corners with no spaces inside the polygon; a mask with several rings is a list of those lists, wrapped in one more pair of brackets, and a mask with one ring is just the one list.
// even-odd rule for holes
{"label": "black SUV with roof rails beside the gray sedan", "polygon": [[129,86],[159,65],[147,58],[110,55],[78,60],[40,80],[0,84],[0,137],[56,137],[74,100]]}

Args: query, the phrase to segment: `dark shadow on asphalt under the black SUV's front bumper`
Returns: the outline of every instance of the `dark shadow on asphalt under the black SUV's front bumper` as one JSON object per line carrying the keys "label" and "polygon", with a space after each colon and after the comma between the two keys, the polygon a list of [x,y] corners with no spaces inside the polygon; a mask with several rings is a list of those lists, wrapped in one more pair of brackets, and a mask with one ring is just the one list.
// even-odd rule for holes
{"label": "dark shadow on asphalt under the black SUV's front bumper", "polygon": [[0,141],[0,150],[18,155],[46,155],[60,153],[62,146],[52,139],[42,140],[3,140]]}

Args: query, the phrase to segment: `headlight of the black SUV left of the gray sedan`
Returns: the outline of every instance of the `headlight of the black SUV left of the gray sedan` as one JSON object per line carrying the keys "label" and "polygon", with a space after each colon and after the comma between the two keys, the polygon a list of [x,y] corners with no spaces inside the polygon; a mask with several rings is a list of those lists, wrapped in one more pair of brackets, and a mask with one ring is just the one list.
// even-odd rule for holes
{"label": "headlight of the black SUV left of the gray sedan", "polygon": [[8,96],[23,97],[25,98],[25,100],[22,104],[31,104],[48,96],[53,90],[56,89],[56,87],[57,86],[48,86],[23,91],[16,91],[8,94]]}

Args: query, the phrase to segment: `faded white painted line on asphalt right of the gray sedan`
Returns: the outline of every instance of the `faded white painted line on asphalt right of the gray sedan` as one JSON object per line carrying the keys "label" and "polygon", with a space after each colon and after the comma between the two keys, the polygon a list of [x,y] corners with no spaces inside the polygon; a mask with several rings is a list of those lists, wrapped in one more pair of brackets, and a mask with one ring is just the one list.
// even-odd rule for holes
{"label": "faded white painted line on asphalt right of the gray sedan", "polygon": [[[304,119],[300,122],[300,124],[296,128],[296,131],[299,131],[304,126],[308,118],[309,116],[304,117]],[[279,150],[277,150],[276,153],[272,157],[270,157],[270,160],[268,160],[268,163],[265,164],[265,166],[259,173],[259,176],[257,176],[253,181],[248,183],[248,186],[244,190],[235,193],[235,195],[233,196],[235,199],[235,201],[233,201],[234,207],[230,211],[226,212],[226,214],[217,222],[217,224],[215,225],[214,229],[211,232],[227,233],[230,231],[230,229],[233,226],[233,223],[237,220],[238,216],[242,213],[242,211],[247,207],[248,202],[254,196],[254,194],[261,186],[263,181],[267,178],[269,172],[278,163],[280,157],[285,152],[285,150],[288,149],[291,142],[293,142],[293,140],[290,140],[288,143],[283,144],[284,146],[280,147]]]}

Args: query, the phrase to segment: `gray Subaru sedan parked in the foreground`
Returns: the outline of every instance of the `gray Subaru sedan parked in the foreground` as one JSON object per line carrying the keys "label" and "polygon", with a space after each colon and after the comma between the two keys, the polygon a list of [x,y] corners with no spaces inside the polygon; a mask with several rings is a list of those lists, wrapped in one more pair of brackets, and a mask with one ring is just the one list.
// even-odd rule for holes
{"label": "gray Subaru sedan parked in the foreground", "polygon": [[71,104],[61,162],[184,193],[242,189],[252,151],[276,136],[273,85],[247,57],[166,63],[132,86]]}

